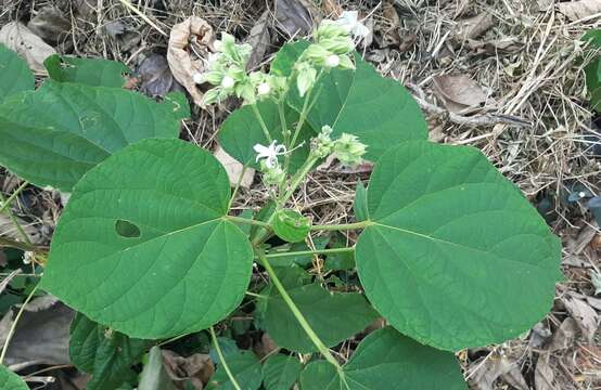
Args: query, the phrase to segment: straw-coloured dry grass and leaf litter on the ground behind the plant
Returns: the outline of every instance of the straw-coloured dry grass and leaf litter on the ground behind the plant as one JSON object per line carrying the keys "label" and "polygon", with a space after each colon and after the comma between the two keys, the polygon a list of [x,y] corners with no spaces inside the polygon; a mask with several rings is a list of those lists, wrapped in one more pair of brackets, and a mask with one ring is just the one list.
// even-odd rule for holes
{"label": "straw-coloured dry grass and leaf litter on the ground behind the plant", "polygon": [[[319,18],[340,9],[361,10],[373,30],[366,58],[411,90],[427,114],[431,139],[482,150],[546,214],[564,243],[565,281],[558,286],[552,312],[520,339],[460,352],[471,385],[474,389],[601,389],[597,332],[601,296],[596,297],[591,282],[601,269],[601,235],[586,203],[567,199],[573,193],[589,197],[600,191],[601,145],[593,121],[601,120],[588,107],[583,43],[577,39],[599,28],[601,15],[570,17],[552,0],[278,3],[279,11],[273,12],[272,1],[266,5],[263,0],[139,1],[153,27],[117,0],[4,0],[0,26],[37,17],[37,32],[46,34],[60,53],[118,60],[139,69],[151,54],[166,53],[168,37],[161,30],[169,31],[190,15],[240,40],[248,39],[257,21],[265,22],[265,27],[254,30],[267,35],[260,40],[266,50],[261,63],[289,39],[286,30],[304,28],[307,14]],[[53,16],[40,18],[49,6],[54,6]],[[138,86],[143,87],[143,80]],[[457,103],[465,101],[479,106],[460,112]],[[220,121],[233,108],[233,102],[217,112],[195,107],[182,136],[213,147]],[[341,223],[353,217],[358,179],[368,177],[369,166],[348,171],[334,164],[312,174],[293,202],[316,223]],[[0,183],[4,193],[18,185],[16,178],[7,174]],[[264,199],[265,191],[256,182],[241,192],[235,208],[255,208]],[[49,243],[60,214],[60,196],[29,190],[20,200],[15,212],[26,222],[27,232],[39,243]],[[572,200],[577,199],[572,196]],[[11,234],[10,225],[1,222],[0,229],[5,230],[0,233]]]}

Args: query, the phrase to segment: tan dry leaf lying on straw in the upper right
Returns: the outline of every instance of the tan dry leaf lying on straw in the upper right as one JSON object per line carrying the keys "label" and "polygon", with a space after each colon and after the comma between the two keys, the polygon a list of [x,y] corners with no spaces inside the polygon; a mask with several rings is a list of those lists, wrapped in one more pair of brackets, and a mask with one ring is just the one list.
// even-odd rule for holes
{"label": "tan dry leaf lying on straw in the upper right", "polygon": [[465,75],[435,76],[434,91],[453,114],[464,114],[470,108],[483,106],[488,96],[486,91]]}

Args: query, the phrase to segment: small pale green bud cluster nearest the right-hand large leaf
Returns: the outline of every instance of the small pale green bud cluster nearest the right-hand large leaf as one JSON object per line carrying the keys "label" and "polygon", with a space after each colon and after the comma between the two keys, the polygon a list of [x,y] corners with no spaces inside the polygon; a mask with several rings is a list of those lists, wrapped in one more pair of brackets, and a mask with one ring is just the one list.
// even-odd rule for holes
{"label": "small pale green bud cluster nearest the right-hand large leaf", "polygon": [[362,156],[367,152],[367,146],[359,141],[356,135],[342,133],[337,140],[332,140],[332,128],[323,126],[321,132],[312,141],[312,153],[324,158],[330,154],[345,166],[355,167],[362,161]]}

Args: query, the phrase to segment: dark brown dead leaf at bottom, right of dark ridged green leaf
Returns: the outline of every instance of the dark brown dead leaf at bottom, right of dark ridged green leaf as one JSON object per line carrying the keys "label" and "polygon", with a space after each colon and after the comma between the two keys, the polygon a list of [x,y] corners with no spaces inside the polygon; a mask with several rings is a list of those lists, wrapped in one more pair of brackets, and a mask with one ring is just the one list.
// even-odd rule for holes
{"label": "dark brown dead leaf at bottom, right of dark ridged green leaf", "polygon": [[215,372],[215,366],[208,354],[194,353],[182,358],[169,350],[162,350],[163,365],[174,382],[190,380],[194,389],[202,390]]}

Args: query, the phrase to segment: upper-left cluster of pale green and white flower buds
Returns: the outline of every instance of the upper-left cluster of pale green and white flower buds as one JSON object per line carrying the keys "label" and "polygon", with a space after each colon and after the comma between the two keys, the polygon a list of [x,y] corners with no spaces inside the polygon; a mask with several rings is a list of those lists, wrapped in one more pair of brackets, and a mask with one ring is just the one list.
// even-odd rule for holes
{"label": "upper-left cluster of pale green and white flower buds", "polygon": [[206,91],[205,104],[221,102],[235,95],[246,103],[282,93],[286,87],[283,77],[255,72],[248,75],[246,64],[251,56],[250,44],[238,44],[235,38],[222,32],[221,40],[214,43],[217,53],[208,58],[208,72],[194,77],[196,83],[208,82],[215,88]]}

